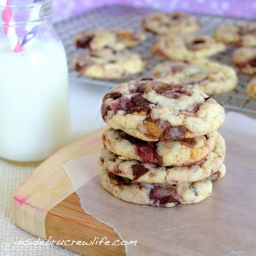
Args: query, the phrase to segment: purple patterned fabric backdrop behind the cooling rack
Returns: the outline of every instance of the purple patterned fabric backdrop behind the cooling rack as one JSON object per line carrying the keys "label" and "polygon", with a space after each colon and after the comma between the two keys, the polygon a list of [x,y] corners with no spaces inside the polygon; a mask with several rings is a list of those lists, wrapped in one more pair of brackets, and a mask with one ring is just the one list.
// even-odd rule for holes
{"label": "purple patterned fabric backdrop behind the cooling rack", "polygon": [[256,0],[53,0],[54,20],[61,20],[106,4],[256,19]]}

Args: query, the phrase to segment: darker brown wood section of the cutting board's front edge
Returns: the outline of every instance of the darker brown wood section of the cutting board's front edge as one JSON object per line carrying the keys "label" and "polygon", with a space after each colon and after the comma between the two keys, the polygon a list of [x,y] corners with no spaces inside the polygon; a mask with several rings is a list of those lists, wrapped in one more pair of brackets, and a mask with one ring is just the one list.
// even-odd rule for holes
{"label": "darker brown wood section of the cutting board's front edge", "polygon": [[[100,209],[99,209],[100,210]],[[68,241],[62,247],[73,250],[81,255],[126,255],[125,247],[97,244],[97,237],[107,237],[110,243],[120,240],[115,230],[108,225],[97,221],[94,217],[86,214],[81,208],[80,198],[74,192],[66,199],[51,209],[45,219],[46,237],[50,241]],[[69,242],[69,240],[71,240]],[[74,241],[88,242],[88,245],[80,245]],[[94,242],[93,242],[94,241]]]}

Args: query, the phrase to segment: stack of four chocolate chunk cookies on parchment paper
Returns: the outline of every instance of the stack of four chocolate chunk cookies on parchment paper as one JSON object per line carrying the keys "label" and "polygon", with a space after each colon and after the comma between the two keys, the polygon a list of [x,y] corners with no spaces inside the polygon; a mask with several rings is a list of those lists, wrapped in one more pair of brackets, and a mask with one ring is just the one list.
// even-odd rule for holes
{"label": "stack of four chocolate chunk cookies on parchment paper", "polygon": [[101,185],[115,197],[172,207],[200,202],[225,175],[224,108],[190,85],[128,81],[103,97]]}

